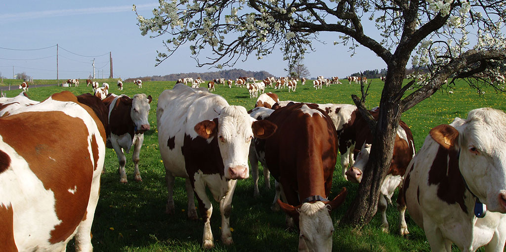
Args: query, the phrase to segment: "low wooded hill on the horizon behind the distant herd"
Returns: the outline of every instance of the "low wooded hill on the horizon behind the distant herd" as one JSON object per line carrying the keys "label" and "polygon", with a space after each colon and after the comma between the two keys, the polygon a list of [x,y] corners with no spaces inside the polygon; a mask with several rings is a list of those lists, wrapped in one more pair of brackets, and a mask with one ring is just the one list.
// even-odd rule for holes
{"label": "low wooded hill on the horizon behind the distant herd", "polygon": [[221,70],[216,72],[205,72],[205,73],[173,73],[173,74],[167,74],[167,75],[153,75],[151,77],[137,77],[137,78],[129,78],[125,79],[125,81],[133,81],[133,79],[142,79],[142,80],[165,80],[165,81],[176,81],[180,78],[184,77],[192,77],[197,78],[200,77],[203,80],[212,80],[212,79],[218,79],[218,78],[225,78],[225,79],[236,79],[238,77],[255,77],[256,79],[265,79],[267,77],[274,76],[266,71],[260,71],[260,72],[253,72],[253,71],[246,71],[242,69],[230,69],[230,70]]}

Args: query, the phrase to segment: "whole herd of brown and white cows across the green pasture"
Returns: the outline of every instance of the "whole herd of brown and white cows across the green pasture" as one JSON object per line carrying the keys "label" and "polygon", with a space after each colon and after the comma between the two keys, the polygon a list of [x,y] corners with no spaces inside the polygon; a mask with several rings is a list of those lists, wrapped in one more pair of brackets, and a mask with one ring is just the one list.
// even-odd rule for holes
{"label": "whole herd of brown and white cows across the green pasture", "polygon": [[[347,79],[367,82],[365,77]],[[248,179],[251,170],[252,196],[260,197],[260,162],[265,186],[270,189],[271,175],[275,179],[271,208],[282,209],[287,225],[298,230],[299,251],[332,250],[330,213],[348,193],[346,188],[330,192],[337,156],[339,176],[361,183],[369,154],[375,151],[374,136],[355,105],[281,101],[277,94],[265,93],[267,87],[296,92],[299,81],[305,85],[306,79],[220,78],[208,81],[206,89],[200,87],[205,83],[201,78],[181,78],[159,95],[156,126],[167,185],[166,213],[176,212],[175,178],[185,179],[187,216],[198,220],[200,215],[203,248],[213,248],[217,241],[210,225],[209,195],[219,203],[221,241],[233,244],[230,216],[237,180]],[[69,79],[67,84],[75,87],[78,82]],[[234,83],[245,87],[251,99],[258,97],[255,108],[229,105],[211,93]],[[318,90],[339,83],[338,77],[318,76],[313,86]],[[134,84],[142,88],[142,80]],[[38,102],[28,97],[28,85],[20,85],[23,92],[18,96],[0,98],[0,247],[6,251],[65,251],[72,238],[76,251],[92,251],[91,227],[106,148],[116,153],[119,182],[128,183],[125,152],[133,147],[134,180],[142,181],[139,153],[144,133],[151,128],[153,98],[118,96],[110,93],[108,83],[99,87],[90,79],[87,86],[93,94],[62,91]],[[117,86],[121,91],[123,82],[118,80]],[[377,120],[381,108],[369,112]],[[506,114],[479,108],[466,119],[434,126],[415,153],[408,125],[399,122],[378,200],[381,229],[389,231],[386,209],[399,188],[400,235],[409,233],[407,210],[433,251],[451,251],[452,243],[465,251],[481,246],[502,251]]]}

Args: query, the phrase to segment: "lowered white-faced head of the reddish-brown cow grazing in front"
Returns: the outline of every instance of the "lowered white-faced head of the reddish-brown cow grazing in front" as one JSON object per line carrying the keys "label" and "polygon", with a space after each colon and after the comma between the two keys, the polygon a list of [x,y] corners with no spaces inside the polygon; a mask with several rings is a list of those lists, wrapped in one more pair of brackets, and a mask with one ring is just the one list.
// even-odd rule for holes
{"label": "lowered white-faced head of the reddish-brown cow grazing in front", "polygon": [[332,201],[307,202],[298,206],[283,203],[278,199],[278,204],[283,211],[293,218],[296,224],[298,221],[299,251],[332,251],[334,225],[330,212],[343,204],[347,193],[348,191],[343,187],[343,190]]}

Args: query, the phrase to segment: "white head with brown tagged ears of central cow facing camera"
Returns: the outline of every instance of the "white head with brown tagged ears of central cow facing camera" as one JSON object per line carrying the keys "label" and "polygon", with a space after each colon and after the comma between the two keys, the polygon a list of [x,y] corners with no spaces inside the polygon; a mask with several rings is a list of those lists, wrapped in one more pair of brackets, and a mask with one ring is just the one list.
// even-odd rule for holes
{"label": "white head with brown tagged ears of central cow facing camera", "polygon": [[270,121],[251,118],[242,106],[227,106],[217,112],[217,118],[197,123],[194,130],[205,139],[218,138],[225,178],[247,179],[251,140],[253,137],[268,138],[277,127]]}

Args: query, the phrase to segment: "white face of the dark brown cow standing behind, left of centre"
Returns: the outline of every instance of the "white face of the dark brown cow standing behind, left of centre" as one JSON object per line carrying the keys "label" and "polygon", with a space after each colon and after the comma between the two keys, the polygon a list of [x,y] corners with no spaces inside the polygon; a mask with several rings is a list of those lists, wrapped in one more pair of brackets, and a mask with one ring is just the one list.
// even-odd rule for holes
{"label": "white face of the dark brown cow standing behind, left of centre", "polygon": [[132,109],[130,110],[130,116],[135,124],[135,134],[144,133],[149,130],[149,103],[151,103],[151,96],[145,94],[137,94],[132,99]]}

